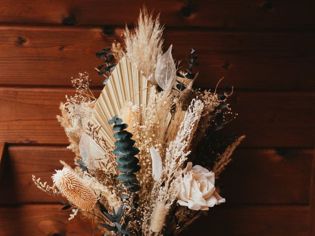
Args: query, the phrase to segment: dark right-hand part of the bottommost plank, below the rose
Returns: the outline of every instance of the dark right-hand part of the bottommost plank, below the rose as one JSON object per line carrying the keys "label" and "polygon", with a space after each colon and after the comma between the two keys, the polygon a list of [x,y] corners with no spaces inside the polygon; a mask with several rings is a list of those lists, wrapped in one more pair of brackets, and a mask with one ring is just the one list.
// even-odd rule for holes
{"label": "dark right-hand part of the bottommost plank, below the rose", "polygon": [[221,206],[212,208],[183,236],[309,236],[306,206]]}

